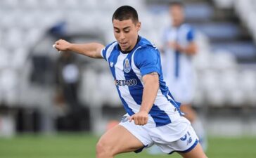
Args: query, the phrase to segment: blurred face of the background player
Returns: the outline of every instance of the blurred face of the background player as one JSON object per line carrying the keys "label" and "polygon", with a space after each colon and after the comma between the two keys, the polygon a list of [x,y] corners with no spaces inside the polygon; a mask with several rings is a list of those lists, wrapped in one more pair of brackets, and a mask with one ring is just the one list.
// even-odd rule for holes
{"label": "blurred face of the background player", "polygon": [[182,22],[184,22],[184,11],[181,6],[170,6],[169,14],[172,17],[172,25],[179,26]]}

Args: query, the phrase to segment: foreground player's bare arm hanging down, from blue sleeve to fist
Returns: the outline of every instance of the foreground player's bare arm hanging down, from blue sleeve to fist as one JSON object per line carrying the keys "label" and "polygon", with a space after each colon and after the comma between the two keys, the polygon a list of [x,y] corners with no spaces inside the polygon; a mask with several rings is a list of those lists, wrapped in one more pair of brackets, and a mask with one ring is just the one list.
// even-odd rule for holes
{"label": "foreground player's bare arm hanging down, from blue sleeve to fist", "polygon": [[151,110],[155,97],[158,94],[159,89],[159,76],[157,72],[146,74],[142,77],[144,88],[141,108],[138,113],[129,117],[129,121],[134,120],[137,125],[145,125],[148,123],[148,112]]}

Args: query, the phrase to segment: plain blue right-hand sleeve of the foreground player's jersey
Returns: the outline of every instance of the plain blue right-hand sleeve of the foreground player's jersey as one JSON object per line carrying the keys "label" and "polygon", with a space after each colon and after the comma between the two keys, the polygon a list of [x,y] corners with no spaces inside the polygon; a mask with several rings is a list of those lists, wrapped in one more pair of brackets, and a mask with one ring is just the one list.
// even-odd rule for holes
{"label": "plain blue right-hand sleeve of the foreground player's jersey", "polygon": [[158,72],[160,75],[160,53],[155,48],[139,48],[134,54],[134,64],[139,68],[141,76],[151,72]]}

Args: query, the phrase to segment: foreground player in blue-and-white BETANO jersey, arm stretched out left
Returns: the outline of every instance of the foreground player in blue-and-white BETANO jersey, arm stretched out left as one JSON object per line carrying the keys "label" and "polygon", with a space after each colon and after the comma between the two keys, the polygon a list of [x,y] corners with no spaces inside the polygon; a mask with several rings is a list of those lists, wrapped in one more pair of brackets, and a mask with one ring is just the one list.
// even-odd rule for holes
{"label": "foreground player in blue-and-white BETANO jersey, arm stretched out left", "polygon": [[190,122],[181,117],[163,81],[160,53],[138,35],[141,22],[131,6],[121,6],[113,14],[115,39],[98,43],[71,44],[58,40],[58,51],[75,51],[91,58],[104,58],[110,67],[124,109],[120,124],[106,131],[96,145],[97,158],[110,158],[123,152],[140,152],[158,145],[167,154],[206,157]]}

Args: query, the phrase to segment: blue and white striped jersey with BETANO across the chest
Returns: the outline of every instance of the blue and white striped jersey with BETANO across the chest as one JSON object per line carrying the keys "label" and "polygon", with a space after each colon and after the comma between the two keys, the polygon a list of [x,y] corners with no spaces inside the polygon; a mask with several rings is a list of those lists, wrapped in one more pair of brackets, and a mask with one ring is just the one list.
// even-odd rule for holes
{"label": "blue and white striped jersey with BETANO across the chest", "polygon": [[122,53],[117,41],[108,44],[101,51],[107,60],[115,80],[124,109],[131,116],[139,112],[142,102],[142,77],[151,72],[158,72],[160,88],[155,103],[149,112],[148,123],[163,126],[172,122],[172,116],[179,114],[179,103],[172,98],[162,77],[160,53],[150,41],[139,37],[136,46],[129,53]]}

